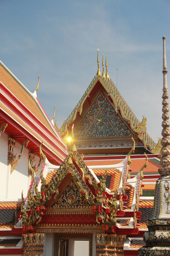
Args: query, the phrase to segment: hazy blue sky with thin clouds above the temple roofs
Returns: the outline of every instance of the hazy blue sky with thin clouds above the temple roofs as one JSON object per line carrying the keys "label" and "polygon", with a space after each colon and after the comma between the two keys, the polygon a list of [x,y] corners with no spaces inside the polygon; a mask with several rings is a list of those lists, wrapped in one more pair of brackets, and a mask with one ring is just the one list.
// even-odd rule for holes
{"label": "hazy blue sky with thin clouds above the temple roofs", "polygon": [[[0,60],[34,92],[58,126],[71,114],[107,53],[108,72],[157,141],[162,123],[162,36],[170,70],[170,1],[0,0]],[[167,74],[168,86],[169,73]]]}

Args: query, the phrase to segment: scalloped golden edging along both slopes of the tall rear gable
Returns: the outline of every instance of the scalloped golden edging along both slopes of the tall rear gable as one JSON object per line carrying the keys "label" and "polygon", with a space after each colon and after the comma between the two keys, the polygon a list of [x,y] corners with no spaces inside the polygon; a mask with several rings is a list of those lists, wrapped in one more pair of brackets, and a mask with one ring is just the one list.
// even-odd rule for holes
{"label": "scalloped golden edging along both slopes of the tall rear gable", "polygon": [[[81,115],[84,102],[89,97],[90,92],[93,90],[98,80],[102,84],[103,88],[106,90],[107,94],[109,94],[113,102],[115,113],[117,113],[119,110],[122,118],[125,121],[129,122],[131,130],[138,134],[138,137],[143,142],[143,145],[146,148],[148,147],[149,150],[152,151],[152,153],[158,154],[160,152],[161,146],[160,139],[158,140],[158,143],[155,143],[153,139],[150,138],[150,136],[146,133],[146,117],[143,116],[143,120],[140,122],[135,116],[135,114],[132,112],[132,110],[130,109],[130,107],[128,106],[128,104],[126,103],[126,101],[124,100],[124,98],[122,97],[122,95],[112,82],[112,80],[107,80],[103,77],[94,77],[93,81],[81,97],[80,101],[77,103],[76,107],[73,109],[72,113],[69,115],[67,120],[63,122],[61,128],[59,129],[59,127],[56,126],[58,131],[60,132],[60,135],[63,136],[65,134],[65,132],[67,131],[67,126],[73,123],[77,116],[77,113]],[[101,112],[100,114],[104,113]],[[95,122],[95,126],[97,126],[97,120]]]}

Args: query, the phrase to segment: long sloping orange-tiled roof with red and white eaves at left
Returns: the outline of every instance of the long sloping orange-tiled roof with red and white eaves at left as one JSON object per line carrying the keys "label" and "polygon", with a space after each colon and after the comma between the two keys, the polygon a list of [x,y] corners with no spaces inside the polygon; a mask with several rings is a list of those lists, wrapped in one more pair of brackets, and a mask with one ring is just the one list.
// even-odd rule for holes
{"label": "long sloping orange-tiled roof with red and white eaves at left", "polygon": [[20,144],[29,139],[27,149],[39,156],[39,146],[53,163],[61,163],[67,149],[56,127],[44,111],[36,91],[29,90],[0,61],[0,125],[7,123],[5,133]]}

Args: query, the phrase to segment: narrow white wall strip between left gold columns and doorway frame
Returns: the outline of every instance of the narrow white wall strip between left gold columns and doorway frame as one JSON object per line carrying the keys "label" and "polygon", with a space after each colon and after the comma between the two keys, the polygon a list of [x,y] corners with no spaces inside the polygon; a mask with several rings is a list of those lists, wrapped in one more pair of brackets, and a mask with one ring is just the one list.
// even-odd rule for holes
{"label": "narrow white wall strip between left gold columns and doorway frame", "polygon": [[53,256],[54,254],[54,233],[44,234],[43,256]]}

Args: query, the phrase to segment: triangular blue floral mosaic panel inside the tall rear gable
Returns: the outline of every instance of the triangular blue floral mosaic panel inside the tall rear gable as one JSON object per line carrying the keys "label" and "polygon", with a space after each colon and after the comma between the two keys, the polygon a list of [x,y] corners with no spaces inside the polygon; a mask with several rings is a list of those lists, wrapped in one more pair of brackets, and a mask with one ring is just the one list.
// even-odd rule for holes
{"label": "triangular blue floral mosaic panel inside the tall rear gable", "polygon": [[75,139],[119,138],[132,137],[132,135],[131,130],[116,114],[102,92],[74,131]]}

